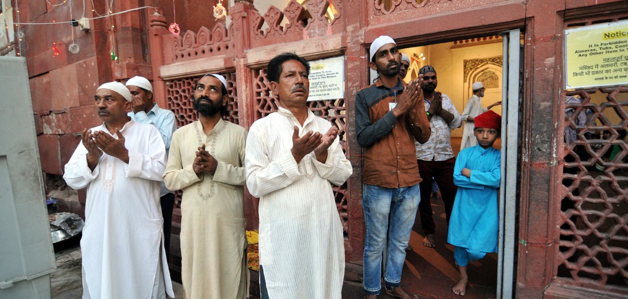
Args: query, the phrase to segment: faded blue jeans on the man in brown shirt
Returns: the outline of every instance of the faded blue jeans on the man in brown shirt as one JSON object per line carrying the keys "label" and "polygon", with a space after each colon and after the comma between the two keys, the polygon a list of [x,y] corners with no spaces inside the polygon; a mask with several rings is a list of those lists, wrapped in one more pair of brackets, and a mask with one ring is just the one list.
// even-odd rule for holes
{"label": "faded blue jeans on the man in brown shirt", "polygon": [[366,223],[364,238],[364,292],[379,295],[382,288],[382,251],[388,234],[386,270],[387,286],[401,284],[401,270],[406,260],[406,247],[421,201],[419,184],[401,188],[362,185],[362,207]]}

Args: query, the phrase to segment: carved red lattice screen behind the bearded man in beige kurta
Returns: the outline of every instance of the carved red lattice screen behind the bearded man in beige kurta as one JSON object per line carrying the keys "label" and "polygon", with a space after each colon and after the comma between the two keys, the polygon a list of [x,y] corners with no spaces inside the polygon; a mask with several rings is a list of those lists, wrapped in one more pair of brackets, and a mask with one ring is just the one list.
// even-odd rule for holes
{"label": "carved red lattice screen behind the bearded man in beige kurta", "polygon": [[[237,102],[236,73],[223,73],[227,80],[227,94],[229,94],[229,117],[223,117],[229,122],[239,125],[239,109]],[[194,84],[201,76],[193,76],[166,81],[166,89],[168,95],[168,109],[175,113],[176,127],[180,128],[188,123],[198,120],[196,110],[192,103],[192,90]],[[178,204],[181,207],[181,191],[175,192]]]}

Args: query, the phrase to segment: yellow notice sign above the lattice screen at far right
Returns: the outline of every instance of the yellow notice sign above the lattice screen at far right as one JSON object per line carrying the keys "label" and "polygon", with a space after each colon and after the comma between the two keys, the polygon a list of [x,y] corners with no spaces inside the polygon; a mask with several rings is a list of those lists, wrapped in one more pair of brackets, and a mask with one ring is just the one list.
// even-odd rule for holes
{"label": "yellow notice sign above the lattice screen at far right", "polygon": [[628,84],[628,21],[565,30],[565,87]]}

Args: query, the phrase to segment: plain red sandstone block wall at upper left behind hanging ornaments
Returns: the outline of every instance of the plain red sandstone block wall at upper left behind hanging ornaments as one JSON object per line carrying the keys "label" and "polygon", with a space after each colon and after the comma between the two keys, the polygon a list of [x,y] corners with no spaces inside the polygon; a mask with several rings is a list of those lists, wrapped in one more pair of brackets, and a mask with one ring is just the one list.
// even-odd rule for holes
{"label": "plain red sandstone block wall at upper left behind hanging ornaments", "polygon": [[[53,6],[49,4],[60,4]],[[201,26],[212,28],[215,18],[213,1],[175,1],[176,22],[181,29],[198,30]],[[70,19],[70,1],[19,0],[19,17],[22,23],[51,23]],[[95,11],[104,14],[104,1],[94,1]],[[85,1],[85,17],[97,16],[92,12],[91,1]],[[112,11],[124,11],[139,6],[156,6],[163,9],[168,23],[173,21],[171,0],[115,1]],[[83,14],[83,1],[72,1],[72,18]],[[67,163],[85,128],[99,125],[100,120],[92,105],[92,97],[100,83],[126,80],[142,75],[152,78],[151,50],[148,46],[148,16],[153,9],[134,11],[90,21],[89,32],[80,31],[70,24],[23,25],[24,45],[21,55],[26,57],[30,77],[33,117],[40,149],[46,193],[48,196],[67,197],[62,204],[78,214],[84,214],[84,192],[58,193],[63,165]],[[114,42],[119,60],[112,62],[111,24],[115,26]],[[72,43],[80,46],[77,54],[68,52]],[[54,57],[53,42],[60,55]],[[62,198],[60,198],[62,199]],[[80,202],[80,204],[79,204]]]}

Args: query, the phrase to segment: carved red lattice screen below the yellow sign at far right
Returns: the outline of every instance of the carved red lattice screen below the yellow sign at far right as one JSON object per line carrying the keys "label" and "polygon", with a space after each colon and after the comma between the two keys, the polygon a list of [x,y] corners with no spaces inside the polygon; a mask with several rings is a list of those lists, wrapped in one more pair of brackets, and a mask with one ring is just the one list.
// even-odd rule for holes
{"label": "carved red lattice screen below the yellow sign at far right", "polygon": [[567,95],[582,102],[570,99],[565,105],[558,276],[574,283],[626,287],[628,87]]}

